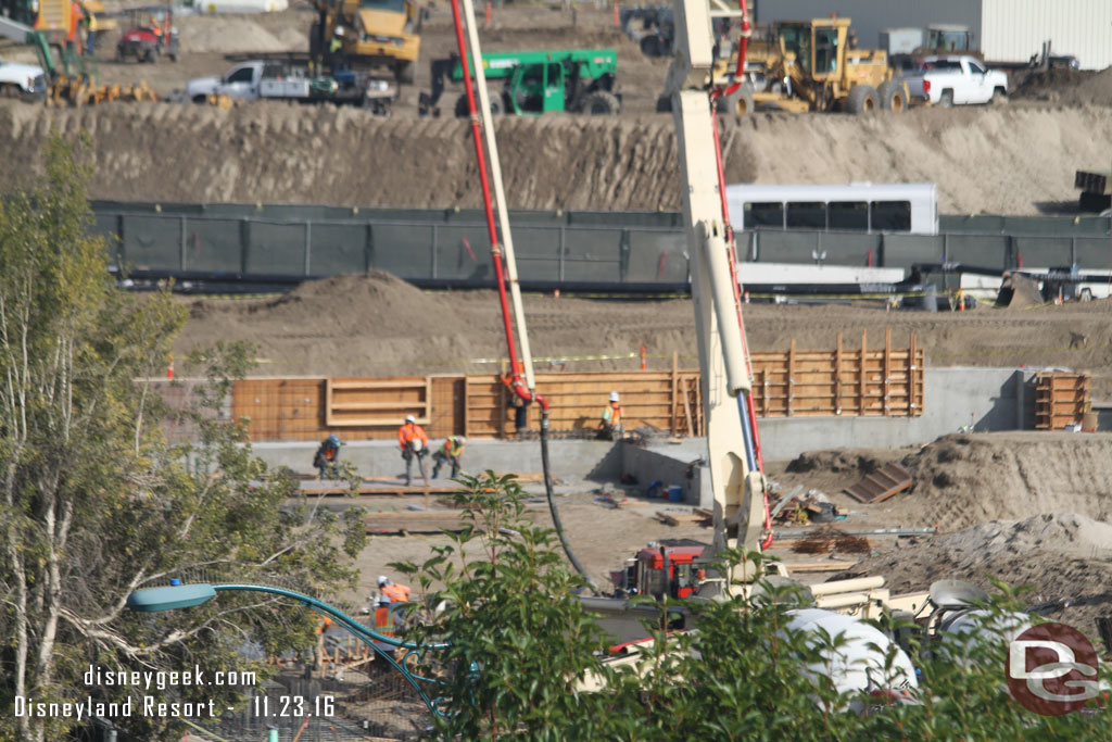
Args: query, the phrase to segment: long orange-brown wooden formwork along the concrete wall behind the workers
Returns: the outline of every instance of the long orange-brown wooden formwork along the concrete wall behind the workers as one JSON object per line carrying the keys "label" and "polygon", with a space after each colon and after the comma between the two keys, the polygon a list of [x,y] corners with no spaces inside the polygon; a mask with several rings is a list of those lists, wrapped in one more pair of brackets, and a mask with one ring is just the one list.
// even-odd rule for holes
{"label": "long orange-brown wooden formwork along the concrete wall behind the workers", "polygon": [[[923,414],[925,354],[915,337],[902,348],[883,343],[843,347],[842,336],[826,350],[755,353],[753,398],[761,417],[818,415],[917,416]],[[553,431],[593,431],[610,392],[622,395],[625,426],[673,435],[704,435],[699,372],[548,372],[537,389],[552,405]],[[394,376],[379,378],[255,378],[232,387],[232,414],[249,418],[256,441],[311,441],[329,433],[344,439],[391,438],[406,415],[414,415],[434,438],[451,434],[489,438],[513,435],[509,389],[496,374]],[[540,410],[528,407],[537,429]]]}

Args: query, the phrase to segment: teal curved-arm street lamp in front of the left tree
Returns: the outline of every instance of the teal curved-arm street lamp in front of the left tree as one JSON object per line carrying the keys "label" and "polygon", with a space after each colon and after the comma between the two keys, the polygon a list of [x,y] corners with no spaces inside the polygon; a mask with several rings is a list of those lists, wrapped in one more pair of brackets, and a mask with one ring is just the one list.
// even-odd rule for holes
{"label": "teal curved-arm street lamp in front of the left tree", "polygon": [[[417,694],[420,695],[421,701],[428,708],[430,713],[437,712],[437,701],[438,699],[430,699],[425,690],[419,685],[419,683],[429,683],[433,685],[438,685],[439,681],[421,677],[409,671],[407,667],[407,661],[410,656],[420,655],[427,650],[439,650],[447,646],[447,644],[415,644],[413,642],[404,642],[394,636],[387,636],[386,634],[380,634],[344,613],[334,605],[329,605],[324,601],[318,601],[311,595],[305,595],[302,593],[297,593],[291,590],[286,590],[284,587],[275,587],[274,585],[252,585],[244,583],[220,583],[220,584],[209,584],[209,583],[189,583],[180,584],[177,580],[171,581],[171,583],[166,587],[148,587],[145,590],[137,590],[130,595],[128,595],[127,605],[132,611],[139,613],[153,613],[157,611],[173,611],[178,609],[188,609],[195,605],[201,605],[208,601],[216,597],[216,594],[221,591],[246,591],[255,593],[269,593],[271,595],[280,595],[282,597],[290,597],[295,601],[308,605],[309,607],[324,613],[327,616],[335,619],[337,622],[342,624],[348,631],[355,634],[358,639],[366,642],[371,650],[377,652],[384,660],[390,663],[395,670],[401,673],[401,676],[413,686]],[[381,644],[388,646],[394,646],[398,649],[408,650],[403,656],[401,662],[394,659],[393,654],[383,649]]]}

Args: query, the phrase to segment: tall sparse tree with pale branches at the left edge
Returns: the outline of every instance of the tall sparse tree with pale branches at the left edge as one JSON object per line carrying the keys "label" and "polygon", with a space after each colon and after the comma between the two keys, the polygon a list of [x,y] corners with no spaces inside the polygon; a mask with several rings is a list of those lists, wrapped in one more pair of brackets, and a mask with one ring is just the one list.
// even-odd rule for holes
{"label": "tall sparse tree with pale branches at the left edge", "polygon": [[[339,523],[285,508],[294,484],[252,458],[240,423],[214,414],[249,349],[197,355],[212,379],[188,413],[199,439],[168,445],[168,410],[150,379],[183,310],[168,293],[136,297],[113,285],[105,241],[90,237],[87,149],[86,138],[53,133],[39,187],[0,201],[0,738],[58,740],[76,723],[13,718],[17,698],[227,705],[238,689],[87,685],[82,675],[90,665],[264,670],[237,652],[245,641],[277,652],[308,643],[316,623],[308,611],[235,595],[140,620],[125,605],[137,588],[199,570],[281,575],[302,591],[353,576]],[[173,726],[142,714],[113,721],[139,739]]]}

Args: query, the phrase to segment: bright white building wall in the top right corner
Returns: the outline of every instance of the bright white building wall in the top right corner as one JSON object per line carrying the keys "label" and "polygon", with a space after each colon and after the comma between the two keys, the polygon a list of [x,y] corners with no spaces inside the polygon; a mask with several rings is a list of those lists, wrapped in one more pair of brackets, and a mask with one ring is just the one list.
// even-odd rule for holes
{"label": "bright white building wall in the top right corner", "polygon": [[1024,62],[1051,42],[1082,69],[1112,66],[1112,0],[982,0],[981,51],[985,59]]}

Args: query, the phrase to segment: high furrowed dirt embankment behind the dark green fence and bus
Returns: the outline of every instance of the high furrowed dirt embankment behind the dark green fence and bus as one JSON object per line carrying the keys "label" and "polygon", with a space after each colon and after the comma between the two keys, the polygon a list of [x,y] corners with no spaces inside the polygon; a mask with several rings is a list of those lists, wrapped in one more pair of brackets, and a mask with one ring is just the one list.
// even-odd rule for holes
{"label": "high furrowed dirt embankment behind the dark green fence and bus", "polygon": [[[466,122],[282,103],[225,111],[0,102],[0,191],[39,171],[52,126],[92,136],[95,198],[480,205]],[[729,182],[934,181],[943,212],[1024,214],[1076,198],[1074,170],[1106,160],[1112,108],[758,113],[728,122],[723,137]],[[505,118],[498,140],[512,207],[679,208],[667,116]]]}

